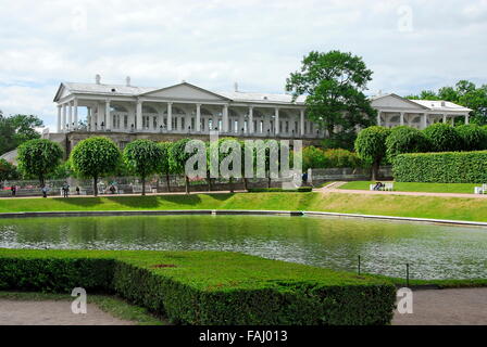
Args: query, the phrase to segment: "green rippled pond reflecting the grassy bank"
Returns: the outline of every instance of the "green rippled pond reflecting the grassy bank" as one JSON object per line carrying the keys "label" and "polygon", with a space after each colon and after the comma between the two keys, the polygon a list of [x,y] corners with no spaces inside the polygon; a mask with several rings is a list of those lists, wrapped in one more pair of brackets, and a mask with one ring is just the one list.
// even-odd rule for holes
{"label": "green rippled pond reflecting the grassy bank", "polygon": [[0,219],[0,247],[213,249],[412,279],[487,278],[487,229],[333,217]]}

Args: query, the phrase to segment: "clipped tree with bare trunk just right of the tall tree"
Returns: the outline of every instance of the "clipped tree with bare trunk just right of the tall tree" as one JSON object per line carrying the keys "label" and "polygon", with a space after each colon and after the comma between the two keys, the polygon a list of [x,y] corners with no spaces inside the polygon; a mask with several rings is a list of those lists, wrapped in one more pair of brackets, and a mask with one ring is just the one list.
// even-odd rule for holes
{"label": "clipped tree with bare trunk just right of the tall tree", "polygon": [[361,130],[355,140],[357,155],[372,164],[372,180],[378,177],[380,162],[386,156],[386,139],[390,130],[373,126]]}

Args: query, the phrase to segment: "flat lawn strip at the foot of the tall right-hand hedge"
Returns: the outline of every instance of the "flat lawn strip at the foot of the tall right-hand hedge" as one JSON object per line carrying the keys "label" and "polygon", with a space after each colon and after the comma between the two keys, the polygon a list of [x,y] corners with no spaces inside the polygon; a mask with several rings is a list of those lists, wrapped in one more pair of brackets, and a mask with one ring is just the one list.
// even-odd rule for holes
{"label": "flat lawn strip at the foot of the tall right-hand hedge", "polygon": [[[340,185],[339,189],[369,190],[370,184],[375,181],[353,181]],[[473,194],[474,187],[482,183],[416,183],[416,182],[395,182],[394,190],[398,192],[427,192],[427,193],[465,193]]]}

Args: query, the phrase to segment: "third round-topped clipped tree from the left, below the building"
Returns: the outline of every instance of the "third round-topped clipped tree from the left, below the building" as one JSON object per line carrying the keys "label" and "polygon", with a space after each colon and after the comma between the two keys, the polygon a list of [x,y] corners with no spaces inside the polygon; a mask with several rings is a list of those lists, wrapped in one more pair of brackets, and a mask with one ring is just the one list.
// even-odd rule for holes
{"label": "third round-topped clipped tree from the left, below the building", "polygon": [[163,155],[162,147],[151,140],[135,140],[125,146],[124,163],[132,172],[140,177],[142,195],[146,195],[146,178],[160,170]]}

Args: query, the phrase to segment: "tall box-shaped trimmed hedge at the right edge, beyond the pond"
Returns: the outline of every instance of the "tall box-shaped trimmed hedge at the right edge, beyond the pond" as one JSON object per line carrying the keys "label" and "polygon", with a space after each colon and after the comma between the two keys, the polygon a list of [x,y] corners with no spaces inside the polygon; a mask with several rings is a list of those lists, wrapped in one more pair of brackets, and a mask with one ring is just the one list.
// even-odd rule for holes
{"label": "tall box-shaped trimmed hedge at the right edge, beyond the pond", "polygon": [[487,151],[400,154],[397,182],[487,183]]}

